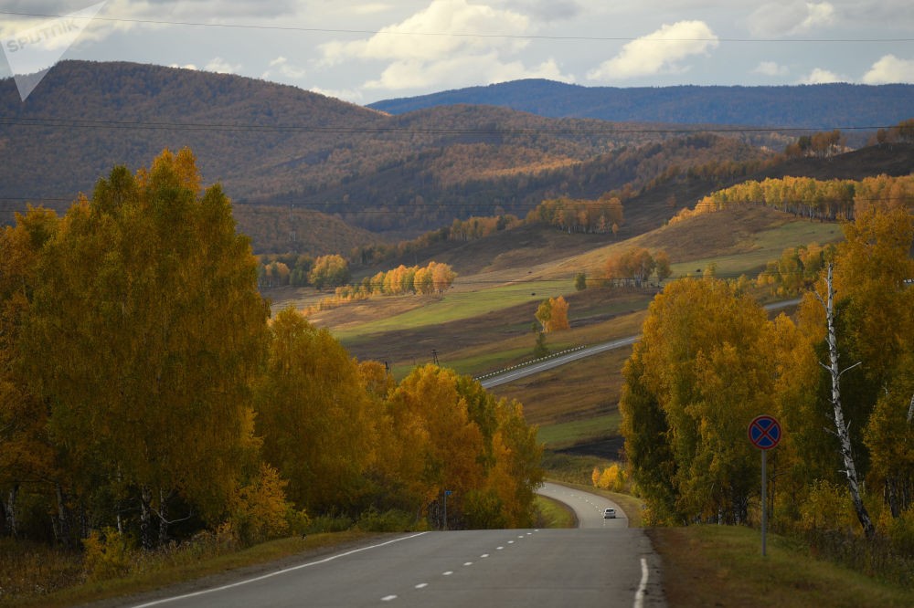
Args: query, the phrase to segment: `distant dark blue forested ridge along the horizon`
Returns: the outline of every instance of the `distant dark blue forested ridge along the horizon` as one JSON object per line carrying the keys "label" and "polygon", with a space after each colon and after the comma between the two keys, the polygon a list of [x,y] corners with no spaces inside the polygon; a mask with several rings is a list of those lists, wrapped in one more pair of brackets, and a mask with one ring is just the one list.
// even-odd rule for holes
{"label": "distant dark blue forested ridge along the horizon", "polygon": [[678,122],[834,129],[884,127],[910,118],[914,85],[821,84],[781,87],[582,87],[544,79],[383,100],[391,114],[458,103],[540,116],[601,121]]}

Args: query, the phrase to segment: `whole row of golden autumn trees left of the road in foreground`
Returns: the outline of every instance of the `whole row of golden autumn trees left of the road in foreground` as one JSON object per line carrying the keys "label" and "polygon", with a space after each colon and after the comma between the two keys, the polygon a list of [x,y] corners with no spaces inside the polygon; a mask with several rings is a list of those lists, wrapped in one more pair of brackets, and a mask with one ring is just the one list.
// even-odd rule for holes
{"label": "whole row of golden autumn trees left of the road in foreground", "polygon": [[151,549],[372,509],[422,526],[444,489],[453,528],[531,523],[520,404],[437,367],[395,383],[295,311],[270,320],[257,275],[186,149],[0,232],[3,534]]}

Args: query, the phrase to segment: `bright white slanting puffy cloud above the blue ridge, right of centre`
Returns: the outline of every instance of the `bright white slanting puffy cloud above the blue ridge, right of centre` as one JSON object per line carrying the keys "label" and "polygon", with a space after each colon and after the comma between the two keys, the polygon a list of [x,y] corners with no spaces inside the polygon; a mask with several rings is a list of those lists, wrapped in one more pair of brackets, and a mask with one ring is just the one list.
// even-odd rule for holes
{"label": "bright white slanting puffy cloud above the blue ridge, right of centre", "polygon": [[707,54],[718,44],[717,36],[704,21],[678,21],[632,40],[622,47],[619,55],[590,70],[587,78],[629,79],[681,72],[687,68],[682,68],[679,62],[693,55]]}

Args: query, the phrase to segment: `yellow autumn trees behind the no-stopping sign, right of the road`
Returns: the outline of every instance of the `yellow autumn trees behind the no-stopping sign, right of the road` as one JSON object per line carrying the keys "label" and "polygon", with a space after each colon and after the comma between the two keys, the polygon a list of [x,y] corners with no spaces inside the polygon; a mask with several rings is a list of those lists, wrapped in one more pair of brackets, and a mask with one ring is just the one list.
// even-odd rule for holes
{"label": "yellow autumn trees behind the no-stopping sign, right of the road", "polygon": [[[737,284],[714,278],[675,281],[654,299],[620,404],[648,519],[757,518],[759,456],[746,429],[773,414],[784,429],[770,460],[776,526],[868,537],[871,517],[872,534],[914,552],[905,531],[914,526],[914,219],[903,205],[873,204],[845,225],[845,239],[824,252],[795,321],[768,320]],[[856,477],[866,482],[857,505]]]}

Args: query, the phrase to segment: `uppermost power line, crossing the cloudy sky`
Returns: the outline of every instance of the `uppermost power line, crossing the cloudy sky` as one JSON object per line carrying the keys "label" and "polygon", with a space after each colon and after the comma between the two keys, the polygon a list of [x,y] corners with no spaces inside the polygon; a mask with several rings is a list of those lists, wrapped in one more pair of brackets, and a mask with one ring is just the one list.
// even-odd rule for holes
{"label": "uppermost power line, crossing the cloudy sky", "polygon": [[304,27],[304,26],[278,26],[278,25],[252,25],[207,23],[205,21],[171,21],[166,19],[131,19],[125,17],[106,16],[68,16],[51,15],[43,13],[21,13],[15,11],[0,11],[0,15],[27,16],[42,18],[78,18],[92,21],[106,21],[110,23],[129,23],[151,26],[185,26],[185,27],[217,27],[227,29],[253,29],[266,31],[305,32],[314,34],[346,34],[358,36],[415,36],[415,37],[454,37],[454,38],[504,38],[508,40],[569,40],[588,42],[632,42],[633,40],[651,42],[735,42],[735,43],[787,43],[787,44],[893,44],[899,42],[914,42],[914,38],[739,38],[739,37],[676,37],[676,38],[645,38],[630,36],[557,36],[542,34],[473,34],[468,32],[416,32],[392,29],[345,29],[332,27]]}

